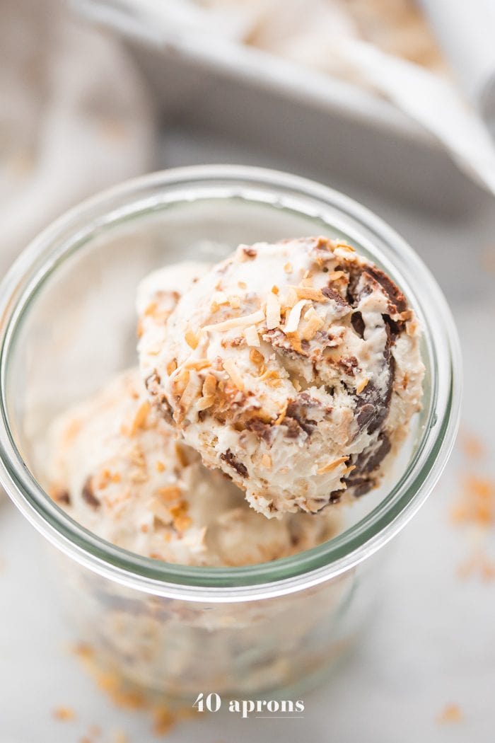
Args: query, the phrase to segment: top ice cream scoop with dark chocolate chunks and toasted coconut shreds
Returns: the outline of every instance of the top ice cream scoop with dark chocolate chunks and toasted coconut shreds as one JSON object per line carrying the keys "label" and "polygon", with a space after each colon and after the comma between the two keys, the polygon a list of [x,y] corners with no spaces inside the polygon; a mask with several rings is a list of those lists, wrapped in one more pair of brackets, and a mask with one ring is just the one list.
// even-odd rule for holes
{"label": "top ice cream scoop with dark chocolate chunks and toasted coconut shreds", "polygon": [[[157,334],[160,343],[154,343]],[[374,487],[419,409],[419,326],[350,245],[240,245],[151,318],[151,400],[255,510],[315,512]]]}

